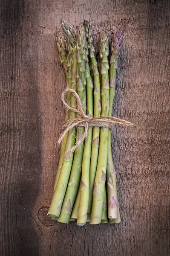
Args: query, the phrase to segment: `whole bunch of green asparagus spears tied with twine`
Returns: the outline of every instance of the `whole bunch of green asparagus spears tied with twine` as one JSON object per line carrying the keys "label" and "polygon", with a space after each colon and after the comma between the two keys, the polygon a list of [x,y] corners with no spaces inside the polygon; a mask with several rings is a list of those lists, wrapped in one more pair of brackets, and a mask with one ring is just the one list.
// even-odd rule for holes
{"label": "whole bunch of green asparagus spears tied with twine", "polygon": [[[68,87],[77,91],[86,115],[111,116],[124,26],[115,34],[98,33],[94,40],[91,24],[86,20],[76,32],[64,20],[61,27],[63,33],[57,34],[57,47]],[[67,93],[66,101],[72,108],[77,107],[73,94]],[[79,118],[78,114],[66,110],[65,119],[75,117]],[[86,222],[118,223],[120,212],[111,131],[89,126],[87,138],[75,147],[82,134],[84,127],[77,127],[63,138],[48,215],[62,223],[77,220],[79,226]]]}

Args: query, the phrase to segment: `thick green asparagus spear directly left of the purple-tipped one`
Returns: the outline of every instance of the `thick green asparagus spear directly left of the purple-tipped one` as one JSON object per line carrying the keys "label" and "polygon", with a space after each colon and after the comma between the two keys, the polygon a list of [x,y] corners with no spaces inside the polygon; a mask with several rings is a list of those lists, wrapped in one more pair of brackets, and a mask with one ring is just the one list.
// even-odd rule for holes
{"label": "thick green asparagus spear directly left of the purple-tipped one", "polygon": [[[100,37],[100,53],[101,59],[101,116],[109,114],[109,64],[108,64],[108,38],[105,32]],[[98,163],[95,175],[95,183],[93,188],[93,202],[90,224],[101,223],[101,214],[104,198],[104,186],[106,180],[107,153],[108,153],[108,135],[107,128],[100,129],[100,143],[98,153]]]}

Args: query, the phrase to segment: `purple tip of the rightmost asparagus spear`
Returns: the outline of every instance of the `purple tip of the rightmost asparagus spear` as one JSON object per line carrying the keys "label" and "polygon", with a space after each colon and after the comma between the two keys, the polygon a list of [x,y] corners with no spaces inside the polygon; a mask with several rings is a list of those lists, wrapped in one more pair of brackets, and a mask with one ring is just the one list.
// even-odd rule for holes
{"label": "purple tip of the rightmost asparagus spear", "polygon": [[112,52],[114,52],[117,55],[118,55],[118,53],[121,49],[122,43],[123,43],[124,31],[125,31],[125,26],[121,26],[121,28],[115,32],[115,34],[112,38],[111,50],[112,50]]}

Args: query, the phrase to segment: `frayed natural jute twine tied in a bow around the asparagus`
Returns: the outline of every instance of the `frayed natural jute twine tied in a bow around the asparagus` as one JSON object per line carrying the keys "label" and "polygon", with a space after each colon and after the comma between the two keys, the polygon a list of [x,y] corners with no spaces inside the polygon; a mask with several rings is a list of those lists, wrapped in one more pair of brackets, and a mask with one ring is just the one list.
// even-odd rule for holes
{"label": "frayed natural jute twine tied in a bow around the asparagus", "polygon": [[[66,103],[65,97],[67,92],[71,92],[75,96],[75,99],[77,100],[77,108],[72,108]],[[69,119],[64,122],[64,125],[63,125],[64,131],[60,135],[58,143],[60,144],[63,141],[63,138],[66,135],[66,133],[72,130],[72,128],[81,127],[81,126],[85,128],[84,134],[81,134],[77,138],[75,146],[72,147],[71,149],[72,152],[75,151],[75,149],[88,137],[89,126],[107,128],[110,130],[112,130],[114,125],[125,125],[130,128],[136,128],[136,125],[132,124],[131,122],[127,122],[126,120],[119,119],[114,116],[99,116],[99,117],[92,117],[90,115],[87,116],[83,111],[81,99],[78,96],[78,93],[76,93],[76,91],[73,89],[66,88],[61,95],[61,99],[63,104],[69,111],[73,111],[77,113],[78,116],[80,117]]]}

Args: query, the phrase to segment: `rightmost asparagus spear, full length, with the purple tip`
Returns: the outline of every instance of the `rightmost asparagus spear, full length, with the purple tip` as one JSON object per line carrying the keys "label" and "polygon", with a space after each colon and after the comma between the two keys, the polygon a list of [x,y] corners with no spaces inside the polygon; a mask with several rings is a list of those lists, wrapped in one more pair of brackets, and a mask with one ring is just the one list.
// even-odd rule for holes
{"label": "rightmost asparagus spear, full length, with the purple tip", "polygon": [[[110,57],[110,68],[109,68],[109,116],[112,116],[112,106],[115,97],[115,80],[117,70],[117,58],[118,53],[121,49],[125,27],[122,26],[117,30],[115,35],[112,36],[111,40],[111,57]],[[107,195],[108,195],[108,217],[109,219],[119,219],[119,208],[118,208],[118,195],[116,187],[116,172],[112,160],[112,149],[111,149],[111,131],[109,131],[109,146],[108,146],[108,158],[107,158]]]}

